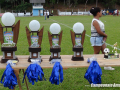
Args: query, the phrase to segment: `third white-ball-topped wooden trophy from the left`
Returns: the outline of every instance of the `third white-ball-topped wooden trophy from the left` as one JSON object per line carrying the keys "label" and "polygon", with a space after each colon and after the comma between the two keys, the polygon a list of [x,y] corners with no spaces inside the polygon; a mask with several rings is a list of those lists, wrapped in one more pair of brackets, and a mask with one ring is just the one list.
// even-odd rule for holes
{"label": "third white-ball-topped wooden trophy from the left", "polygon": [[[48,37],[49,37],[49,43],[50,43],[50,52],[51,56],[49,58],[49,61],[53,59],[61,59],[60,52],[61,52],[61,40],[62,40],[62,32],[61,27],[57,23],[53,23],[50,26],[50,32],[48,31]],[[58,34],[60,32],[60,34]]]}

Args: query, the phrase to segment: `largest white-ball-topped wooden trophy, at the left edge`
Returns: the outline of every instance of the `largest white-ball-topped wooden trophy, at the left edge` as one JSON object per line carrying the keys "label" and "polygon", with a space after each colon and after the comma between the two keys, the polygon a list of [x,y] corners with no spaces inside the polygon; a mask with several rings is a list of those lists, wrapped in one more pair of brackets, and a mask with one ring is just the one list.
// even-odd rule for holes
{"label": "largest white-ball-topped wooden trophy, at the left edge", "polygon": [[0,24],[0,41],[1,41],[1,51],[3,52],[3,57],[1,63],[6,63],[8,60],[16,60],[18,58],[15,56],[15,51],[17,51],[17,40],[19,35],[20,20],[15,23],[15,16],[12,13],[4,13],[1,18],[2,23]]}

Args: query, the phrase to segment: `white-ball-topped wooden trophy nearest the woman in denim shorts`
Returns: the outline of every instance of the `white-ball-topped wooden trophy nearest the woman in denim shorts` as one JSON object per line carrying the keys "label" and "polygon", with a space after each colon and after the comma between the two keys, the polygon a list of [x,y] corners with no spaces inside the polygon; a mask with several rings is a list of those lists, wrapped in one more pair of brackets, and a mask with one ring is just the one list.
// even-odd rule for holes
{"label": "white-ball-topped wooden trophy nearest the woman in denim shorts", "polygon": [[73,61],[83,61],[83,43],[85,39],[85,30],[82,23],[75,23],[73,25],[73,31],[71,32],[71,39],[73,44],[74,55],[72,56]]}

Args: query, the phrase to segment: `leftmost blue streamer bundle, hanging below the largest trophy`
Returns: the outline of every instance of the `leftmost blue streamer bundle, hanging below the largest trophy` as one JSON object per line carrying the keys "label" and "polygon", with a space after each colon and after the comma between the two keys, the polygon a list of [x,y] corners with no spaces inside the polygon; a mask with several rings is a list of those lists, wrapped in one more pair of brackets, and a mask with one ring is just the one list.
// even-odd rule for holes
{"label": "leftmost blue streamer bundle, hanging below the largest trophy", "polygon": [[1,78],[1,83],[4,85],[4,87],[8,87],[9,89],[14,89],[15,85],[17,85],[17,78],[10,64],[6,66],[6,69]]}

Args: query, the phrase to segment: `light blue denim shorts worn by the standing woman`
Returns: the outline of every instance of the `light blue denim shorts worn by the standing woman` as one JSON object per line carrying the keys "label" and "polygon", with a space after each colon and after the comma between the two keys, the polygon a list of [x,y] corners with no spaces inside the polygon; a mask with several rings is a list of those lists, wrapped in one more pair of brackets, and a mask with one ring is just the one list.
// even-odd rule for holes
{"label": "light blue denim shorts worn by the standing woman", "polygon": [[103,43],[103,37],[91,37],[90,38],[91,46],[102,46]]}

